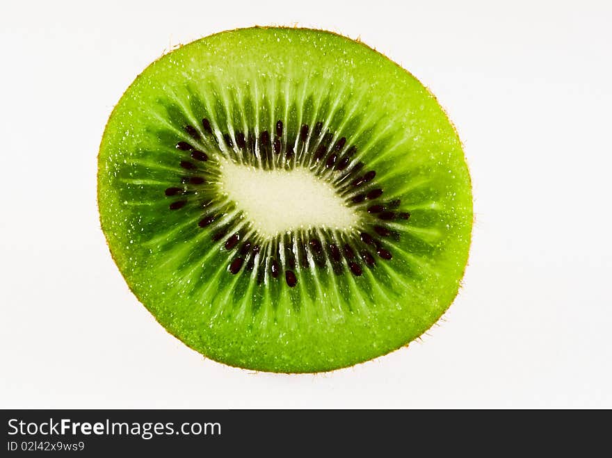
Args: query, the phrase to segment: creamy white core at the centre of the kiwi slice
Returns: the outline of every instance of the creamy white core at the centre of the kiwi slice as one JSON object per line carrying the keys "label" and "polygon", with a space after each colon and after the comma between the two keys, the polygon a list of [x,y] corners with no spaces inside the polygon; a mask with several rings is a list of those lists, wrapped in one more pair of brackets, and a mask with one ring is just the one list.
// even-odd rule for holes
{"label": "creamy white core at the centre of the kiwi slice", "polygon": [[350,231],[359,222],[334,188],[305,167],[262,170],[223,160],[219,185],[264,237],[312,227]]}

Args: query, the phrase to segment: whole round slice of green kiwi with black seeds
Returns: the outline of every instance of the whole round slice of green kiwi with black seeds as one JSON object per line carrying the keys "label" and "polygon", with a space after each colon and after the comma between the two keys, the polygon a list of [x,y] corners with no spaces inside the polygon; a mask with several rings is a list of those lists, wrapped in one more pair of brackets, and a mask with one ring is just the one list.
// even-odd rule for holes
{"label": "whole round slice of green kiwi with black seeds", "polygon": [[168,332],[231,366],[351,366],[458,292],[472,229],[460,140],[361,42],[245,28],[152,63],[108,120],[102,229]]}

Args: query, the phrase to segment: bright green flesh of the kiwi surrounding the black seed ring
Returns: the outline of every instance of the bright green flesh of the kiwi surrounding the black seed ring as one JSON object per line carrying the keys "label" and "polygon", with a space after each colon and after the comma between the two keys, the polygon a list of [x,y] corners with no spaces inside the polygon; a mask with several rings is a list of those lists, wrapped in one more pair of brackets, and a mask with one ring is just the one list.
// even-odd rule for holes
{"label": "bright green flesh of the kiwi surrounding the black seed ring", "polygon": [[[287,141],[317,121],[346,136],[410,212],[387,242],[393,259],[360,277],[304,270],[295,288],[230,275],[223,240],[198,227],[197,199],[168,211],[164,195],[185,174],[182,128],[201,130],[204,117],[221,133],[282,120]],[[108,120],[98,201],[113,259],[168,332],[210,359],[273,372],[351,366],[417,338],[456,296],[472,228],[460,140],[433,95],[364,44],[296,28],[218,33],[147,67]]]}

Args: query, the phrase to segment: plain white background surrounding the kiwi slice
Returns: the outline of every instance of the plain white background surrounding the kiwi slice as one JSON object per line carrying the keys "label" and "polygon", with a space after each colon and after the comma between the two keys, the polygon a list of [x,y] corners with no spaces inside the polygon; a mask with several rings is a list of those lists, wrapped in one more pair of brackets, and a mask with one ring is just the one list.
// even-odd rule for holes
{"label": "plain white background surrounding the kiwi slice", "polygon": [[[4,3],[0,407],[612,407],[612,3],[493,3]],[[164,51],[255,24],[361,37],[455,122],[474,243],[421,342],[334,373],[229,368],[113,264],[96,207],[113,105]]]}

